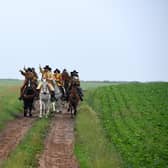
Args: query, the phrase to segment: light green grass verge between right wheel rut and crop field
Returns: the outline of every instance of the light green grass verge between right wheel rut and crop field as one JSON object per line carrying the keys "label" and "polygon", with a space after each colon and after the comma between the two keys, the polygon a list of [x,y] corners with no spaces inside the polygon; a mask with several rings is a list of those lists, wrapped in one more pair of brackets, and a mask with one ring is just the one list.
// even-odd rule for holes
{"label": "light green grass verge between right wheel rut and crop field", "polygon": [[118,168],[120,157],[104,136],[96,113],[81,105],[76,120],[75,154],[81,168]]}

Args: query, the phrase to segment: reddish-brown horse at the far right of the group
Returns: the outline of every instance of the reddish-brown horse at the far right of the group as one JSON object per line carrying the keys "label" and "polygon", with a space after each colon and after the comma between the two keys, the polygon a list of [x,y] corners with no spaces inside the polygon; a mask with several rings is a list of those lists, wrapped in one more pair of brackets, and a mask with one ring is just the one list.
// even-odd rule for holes
{"label": "reddish-brown horse at the far right of the group", "polygon": [[76,86],[72,86],[69,91],[68,102],[69,108],[68,111],[71,112],[71,117],[76,116],[77,106],[79,104],[80,97]]}

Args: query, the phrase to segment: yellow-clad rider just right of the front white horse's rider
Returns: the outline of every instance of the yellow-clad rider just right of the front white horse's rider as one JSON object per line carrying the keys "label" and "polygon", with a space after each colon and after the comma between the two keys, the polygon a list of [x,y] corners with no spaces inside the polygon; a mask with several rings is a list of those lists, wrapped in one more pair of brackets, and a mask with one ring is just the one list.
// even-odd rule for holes
{"label": "yellow-clad rider just right of the front white horse's rider", "polygon": [[62,81],[62,74],[61,71],[59,69],[55,69],[54,71],[54,80],[56,81],[57,86],[59,87],[63,97],[65,96],[64,94],[64,88],[63,88],[63,81]]}

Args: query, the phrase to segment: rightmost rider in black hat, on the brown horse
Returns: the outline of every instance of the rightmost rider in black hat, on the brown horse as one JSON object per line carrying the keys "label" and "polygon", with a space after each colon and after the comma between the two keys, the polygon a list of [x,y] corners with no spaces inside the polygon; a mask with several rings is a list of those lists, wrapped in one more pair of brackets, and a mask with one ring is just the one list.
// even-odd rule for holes
{"label": "rightmost rider in black hat, on the brown horse", "polygon": [[72,86],[76,86],[80,100],[83,101],[83,92],[82,92],[82,88],[80,87],[80,80],[79,80],[79,75],[78,72],[76,70],[71,72],[71,84],[70,84],[70,88]]}

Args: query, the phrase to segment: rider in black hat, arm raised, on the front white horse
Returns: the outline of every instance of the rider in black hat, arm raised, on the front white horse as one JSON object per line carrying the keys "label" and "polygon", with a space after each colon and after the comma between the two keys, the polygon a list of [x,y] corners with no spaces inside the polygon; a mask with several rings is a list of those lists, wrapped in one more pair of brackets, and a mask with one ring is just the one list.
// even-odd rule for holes
{"label": "rider in black hat, arm raised, on the front white horse", "polygon": [[[42,74],[42,80],[45,79],[48,83],[48,88],[51,93],[51,101],[54,101],[55,92],[54,92],[54,84],[53,84],[53,74],[51,72],[52,69],[49,67],[49,65],[46,65],[43,69],[41,68],[41,66],[39,66],[39,69]],[[40,91],[41,86],[42,86],[42,82],[40,82],[37,86],[38,91]]]}

